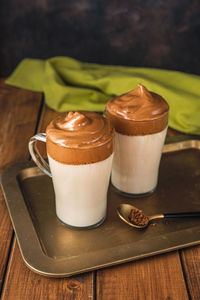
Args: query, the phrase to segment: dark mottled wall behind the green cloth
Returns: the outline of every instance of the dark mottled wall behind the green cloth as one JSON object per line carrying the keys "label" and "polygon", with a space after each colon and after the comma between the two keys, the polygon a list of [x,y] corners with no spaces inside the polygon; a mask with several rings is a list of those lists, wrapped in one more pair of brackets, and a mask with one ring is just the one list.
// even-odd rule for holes
{"label": "dark mottled wall behind the green cloth", "polygon": [[25,57],[200,74],[199,0],[1,0],[0,75]]}

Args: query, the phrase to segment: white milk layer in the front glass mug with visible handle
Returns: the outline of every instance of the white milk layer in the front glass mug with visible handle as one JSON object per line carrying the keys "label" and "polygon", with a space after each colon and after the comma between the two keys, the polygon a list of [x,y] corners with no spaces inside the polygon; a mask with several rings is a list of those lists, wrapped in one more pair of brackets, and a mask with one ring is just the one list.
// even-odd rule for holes
{"label": "white milk layer in the front glass mug with visible handle", "polygon": [[113,154],[86,165],[66,165],[48,158],[58,218],[75,227],[92,226],[103,220]]}

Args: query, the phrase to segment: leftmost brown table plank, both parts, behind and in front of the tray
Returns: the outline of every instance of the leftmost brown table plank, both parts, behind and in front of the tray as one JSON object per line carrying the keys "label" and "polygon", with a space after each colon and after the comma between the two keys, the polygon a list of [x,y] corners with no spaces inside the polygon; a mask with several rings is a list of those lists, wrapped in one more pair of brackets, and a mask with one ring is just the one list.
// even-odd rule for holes
{"label": "leftmost brown table plank, both parts, behind and in front of the tray", "polygon": [[[22,91],[0,80],[0,174],[11,163],[28,159],[27,142],[34,133],[41,94]],[[11,246],[12,226],[0,192],[0,290]]]}

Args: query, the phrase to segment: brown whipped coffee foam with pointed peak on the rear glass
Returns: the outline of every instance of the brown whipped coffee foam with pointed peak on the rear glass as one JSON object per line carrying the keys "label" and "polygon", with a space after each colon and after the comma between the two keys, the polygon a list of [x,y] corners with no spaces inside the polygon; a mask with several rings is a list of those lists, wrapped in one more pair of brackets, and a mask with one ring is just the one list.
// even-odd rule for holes
{"label": "brown whipped coffee foam with pointed peak on the rear glass", "polygon": [[127,94],[112,98],[107,104],[107,118],[117,132],[125,135],[162,131],[168,124],[168,111],[167,102],[141,84]]}

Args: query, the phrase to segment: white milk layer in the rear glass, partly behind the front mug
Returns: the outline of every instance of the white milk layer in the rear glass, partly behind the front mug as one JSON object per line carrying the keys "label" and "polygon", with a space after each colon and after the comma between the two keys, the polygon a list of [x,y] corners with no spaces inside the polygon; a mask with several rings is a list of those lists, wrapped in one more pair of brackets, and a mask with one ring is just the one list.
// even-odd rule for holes
{"label": "white milk layer in the rear glass, partly behind the front mug", "polygon": [[117,189],[130,194],[155,189],[166,132],[167,128],[143,136],[116,133],[111,181]]}

